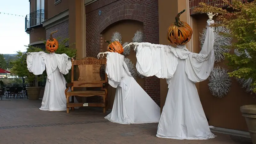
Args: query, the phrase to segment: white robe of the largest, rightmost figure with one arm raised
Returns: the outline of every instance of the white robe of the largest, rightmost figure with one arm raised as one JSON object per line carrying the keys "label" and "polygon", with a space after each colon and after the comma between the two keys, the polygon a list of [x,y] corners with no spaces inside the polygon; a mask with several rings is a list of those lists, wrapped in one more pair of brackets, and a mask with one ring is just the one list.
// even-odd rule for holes
{"label": "white robe of the largest, rightmost figure with one arm raised", "polygon": [[[207,20],[208,26],[214,23]],[[189,52],[186,45],[137,43],[138,72],[165,78],[168,94],[157,129],[157,137],[180,140],[214,138],[194,83],[204,81],[214,66],[214,31],[207,28],[201,52]]]}

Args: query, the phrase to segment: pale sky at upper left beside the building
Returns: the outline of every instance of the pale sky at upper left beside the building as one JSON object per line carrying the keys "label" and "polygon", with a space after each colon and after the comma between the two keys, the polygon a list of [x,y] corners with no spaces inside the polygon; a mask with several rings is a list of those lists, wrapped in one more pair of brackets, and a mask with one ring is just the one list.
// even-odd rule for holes
{"label": "pale sky at upper left beside the building", "polygon": [[25,16],[29,14],[28,0],[0,0],[0,12],[0,53],[26,52],[24,45],[29,44],[29,35],[25,32]]}

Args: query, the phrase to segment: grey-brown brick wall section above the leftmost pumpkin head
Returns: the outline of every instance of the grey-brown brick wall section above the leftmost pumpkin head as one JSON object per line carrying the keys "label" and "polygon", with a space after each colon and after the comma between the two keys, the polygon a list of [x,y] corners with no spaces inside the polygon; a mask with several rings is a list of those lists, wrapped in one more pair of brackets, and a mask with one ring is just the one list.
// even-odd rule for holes
{"label": "grey-brown brick wall section above the leftmost pumpkin head", "polygon": [[[52,37],[54,37],[54,38],[60,37],[60,39],[58,40],[59,43],[64,38],[68,38],[69,37],[69,35],[68,35],[68,20],[64,21],[56,26],[46,29],[46,39],[48,39],[50,37],[50,33],[55,30],[58,30],[58,32],[52,34]],[[68,43],[66,45],[68,45]]]}

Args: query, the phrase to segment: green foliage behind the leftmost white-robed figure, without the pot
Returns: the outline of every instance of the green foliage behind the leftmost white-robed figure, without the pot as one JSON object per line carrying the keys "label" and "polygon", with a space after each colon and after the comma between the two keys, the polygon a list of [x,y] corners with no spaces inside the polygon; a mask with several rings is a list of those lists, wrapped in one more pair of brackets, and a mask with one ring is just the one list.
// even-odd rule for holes
{"label": "green foliage behind the leftmost white-robed figure, without the pot", "polygon": [[[73,57],[76,55],[76,49],[71,49],[69,46],[65,46],[65,43],[67,43],[68,38],[64,39],[59,43],[59,48],[55,52],[57,54],[66,53],[69,57]],[[28,46],[27,52],[46,52],[38,47]],[[15,60],[10,61],[10,65],[12,65],[11,73],[19,76],[19,77],[27,77],[28,81],[31,86],[34,85],[35,78],[37,78],[37,81],[42,81],[45,76],[47,76],[46,71],[44,71],[43,75],[40,77],[36,77],[33,73],[30,73],[27,68],[27,55],[23,54],[22,52],[18,51],[18,54],[16,55]],[[68,81],[70,78],[69,75],[64,76],[66,80]]]}

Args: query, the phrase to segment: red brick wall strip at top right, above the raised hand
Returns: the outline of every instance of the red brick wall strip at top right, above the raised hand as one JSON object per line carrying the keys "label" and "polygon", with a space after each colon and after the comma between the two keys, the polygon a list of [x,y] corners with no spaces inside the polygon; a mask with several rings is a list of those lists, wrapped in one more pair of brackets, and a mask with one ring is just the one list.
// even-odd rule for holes
{"label": "red brick wall strip at top right, above the raised hand", "polygon": [[[231,2],[232,0],[229,0]],[[242,2],[250,1],[250,0],[241,0]],[[212,6],[217,6],[217,7],[223,7],[223,1],[222,0],[189,0],[189,11],[190,14],[196,14],[193,12],[194,8],[198,6],[200,2],[212,5]]]}

